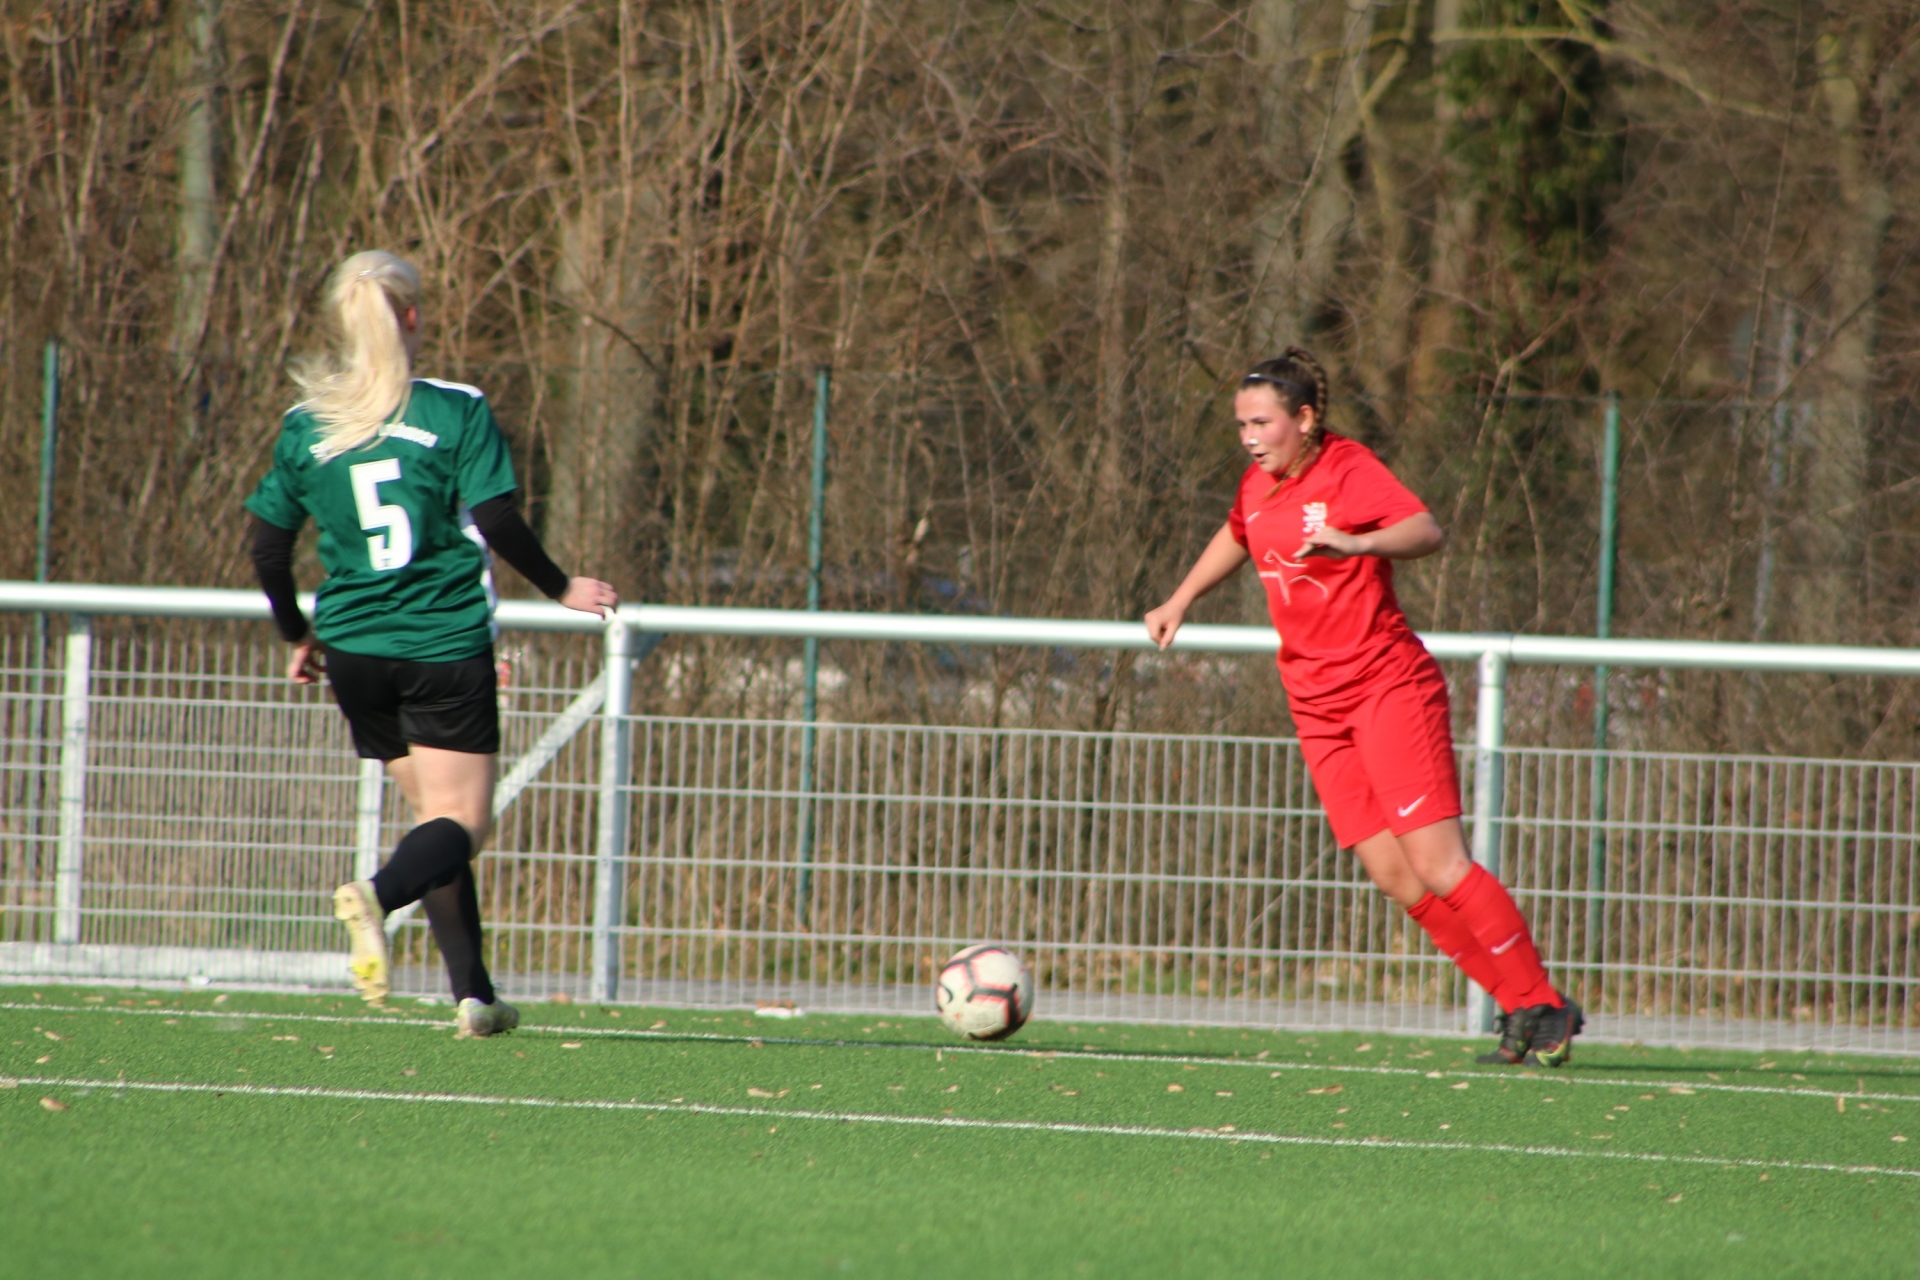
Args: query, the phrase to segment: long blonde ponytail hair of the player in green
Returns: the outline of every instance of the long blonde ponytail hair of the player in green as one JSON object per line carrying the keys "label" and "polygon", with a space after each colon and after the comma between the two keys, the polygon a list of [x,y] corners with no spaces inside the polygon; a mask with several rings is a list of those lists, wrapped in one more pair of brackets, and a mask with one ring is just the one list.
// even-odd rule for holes
{"label": "long blonde ponytail hair of the player in green", "polygon": [[359,449],[407,405],[413,357],[399,315],[420,301],[420,273],[386,249],[340,263],[326,282],[328,351],[294,370],[301,407],[321,420],[323,462]]}

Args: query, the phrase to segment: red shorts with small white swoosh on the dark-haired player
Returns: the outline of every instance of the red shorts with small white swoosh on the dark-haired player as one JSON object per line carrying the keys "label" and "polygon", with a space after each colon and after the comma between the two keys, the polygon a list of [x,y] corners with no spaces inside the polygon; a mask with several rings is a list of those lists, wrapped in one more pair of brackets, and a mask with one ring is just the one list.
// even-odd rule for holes
{"label": "red shorts with small white swoosh on the dark-haired player", "polygon": [[1459,818],[1453,718],[1440,664],[1313,702],[1292,700],[1300,754],[1340,848]]}

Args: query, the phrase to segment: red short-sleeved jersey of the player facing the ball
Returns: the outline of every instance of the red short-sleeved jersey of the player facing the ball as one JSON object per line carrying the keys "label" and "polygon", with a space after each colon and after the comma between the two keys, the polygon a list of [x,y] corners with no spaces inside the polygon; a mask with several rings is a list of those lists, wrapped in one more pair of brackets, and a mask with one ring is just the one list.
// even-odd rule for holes
{"label": "red short-sleeved jersey of the player facing the ball", "polygon": [[1423,510],[1373,449],[1332,432],[1304,476],[1275,482],[1258,466],[1240,476],[1227,528],[1254,557],[1267,589],[1288,697],[1317,699],[1398,679],[1409,658],[1427,656],[1394,599],[1392,560],[1292,558],[1313,530],[1371,533]]}

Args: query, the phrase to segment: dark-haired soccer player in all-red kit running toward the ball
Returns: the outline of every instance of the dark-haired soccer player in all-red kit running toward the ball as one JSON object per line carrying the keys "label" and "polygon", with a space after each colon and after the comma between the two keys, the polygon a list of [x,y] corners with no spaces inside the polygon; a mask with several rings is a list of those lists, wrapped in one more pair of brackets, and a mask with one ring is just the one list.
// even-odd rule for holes
{"label": "dark-haired soccer player in all-red kit running toward the ball", "polygon": [[1196,599],[1254,560],[1281,683],[1334,839],[1501,1007],[1482,1063],[1563,1067],[1582,1029],[1505,887],[1467,856],[1440,664],[1394,599],[1394,560],[1444,533],[1361,443],[1327,430],[1327,374],[1288,347],[1233,401],[1252,457],[1227,524],[1146,631],[1165,649]]}

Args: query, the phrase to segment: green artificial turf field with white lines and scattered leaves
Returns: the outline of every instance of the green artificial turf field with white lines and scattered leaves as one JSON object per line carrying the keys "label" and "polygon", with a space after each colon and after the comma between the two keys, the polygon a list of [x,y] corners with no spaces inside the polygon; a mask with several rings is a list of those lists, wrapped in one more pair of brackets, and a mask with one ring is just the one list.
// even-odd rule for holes
{"label": "green artificial turf field with white lines and scattered leaves", "polygon": [[1910,1061],[522,1013],[0,988],[0,1274],[1920,1270]]}

